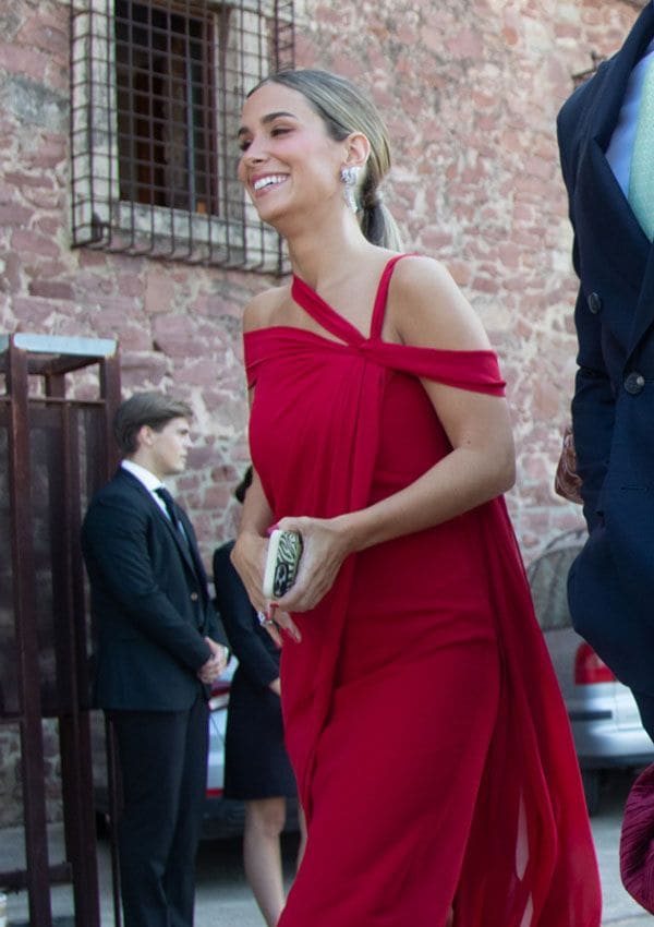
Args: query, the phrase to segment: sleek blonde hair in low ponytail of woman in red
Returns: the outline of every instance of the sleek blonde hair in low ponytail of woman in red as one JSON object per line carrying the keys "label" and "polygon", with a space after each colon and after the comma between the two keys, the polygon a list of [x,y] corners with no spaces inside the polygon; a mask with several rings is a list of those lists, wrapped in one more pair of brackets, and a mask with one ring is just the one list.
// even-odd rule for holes
{"label": "sleek blonde hair in low ponytail of woman in red", "polygon": [[379,184],[390,170],[390,146],[388,131],[375,105],[350,81],[329,71],[308,68],[278,71],[257,84],[249,96],[264,84],[281,84],[301,93],[336,142],[342,142],[352,132],[365,135],[371,154],[356,190],[361,230],[373,244],[401,251],[399,229],[379,192]]}

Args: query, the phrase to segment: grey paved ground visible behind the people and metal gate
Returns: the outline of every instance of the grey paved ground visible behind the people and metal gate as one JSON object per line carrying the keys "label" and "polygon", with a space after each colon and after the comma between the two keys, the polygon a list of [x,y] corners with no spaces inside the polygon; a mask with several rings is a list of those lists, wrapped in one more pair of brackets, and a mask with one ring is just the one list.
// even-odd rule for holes
{"label": "grey paved ground visible behind the people and metal gate", "polygon": [[[604,927],[645,927],[653,918],[622,888],[618,875],[618,840],[621,808],[629,787],[629,778],[616,775],[603,795],[600,814],[593,819],[604,892]],[[22,852],[16,831],[0,831],[0,870],[22,866]],[[61,858],[60,831],[53,830],[51,859]],[[284,863],[290,879],[296,841],[284,839]],[[102,927],[113,927],[109,853],[106,842],[98,845],[101,875]],[[59,887],[53,892],[53,913],[57,927],[72,925],[70,889]],[[9,896],[9,927],[25,927],[27,910],[24,895]],[[213,842],[202,845],[197,865],[196,927],[264,927],[252,900],[241,867],[239,841]]]}

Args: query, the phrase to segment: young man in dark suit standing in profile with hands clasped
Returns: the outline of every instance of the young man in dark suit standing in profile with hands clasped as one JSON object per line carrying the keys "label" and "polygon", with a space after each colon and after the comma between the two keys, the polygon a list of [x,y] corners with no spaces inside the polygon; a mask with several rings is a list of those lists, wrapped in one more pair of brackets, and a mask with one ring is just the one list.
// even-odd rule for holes
{"label": "young man in dark suit standing in profile with hands clasped", "polygon": [[125,927],[192,927],[206,788],[208,686],[227,662],[195,533],[162,484],[181,473],[191,410],[159,393],[124,401],[124,459],[82,527],[97,625],[95,701],[118,744]]}

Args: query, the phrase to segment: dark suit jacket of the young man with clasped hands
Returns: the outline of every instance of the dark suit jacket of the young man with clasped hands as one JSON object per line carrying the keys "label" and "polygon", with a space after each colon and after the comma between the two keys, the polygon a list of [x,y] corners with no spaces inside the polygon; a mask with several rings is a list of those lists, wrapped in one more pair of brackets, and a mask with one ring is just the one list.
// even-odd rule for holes
{"label": "dark suit jacket of the young man with clasped hands", "polygon": [[82,527],[97,634],[94,701],[104,709],[179,711],[198,689],[210,657],[205,636],[225,642],[197,552],[145,486],[124,468],[94,496]]}

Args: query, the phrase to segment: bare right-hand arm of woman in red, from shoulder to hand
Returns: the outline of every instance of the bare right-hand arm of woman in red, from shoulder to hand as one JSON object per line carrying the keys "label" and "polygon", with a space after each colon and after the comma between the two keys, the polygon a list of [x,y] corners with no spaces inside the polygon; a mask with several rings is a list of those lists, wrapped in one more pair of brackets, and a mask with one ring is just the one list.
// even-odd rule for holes
{"label": "bare right-hand arm of woman in red, from shoulder to hand", "polygon": [[[405,258],[391,282],[386,340],[449,350],[488,350],[484,329],[456,284],[436,262]],[[506,400],[423,381],[452,450],[405,489],[365,509],[331,519],[283,518],[301,531],[298,580],[279,601],[284,611],[314,607],[343,559],[373,544],[434,527],[506,492],[514,456]]]}

